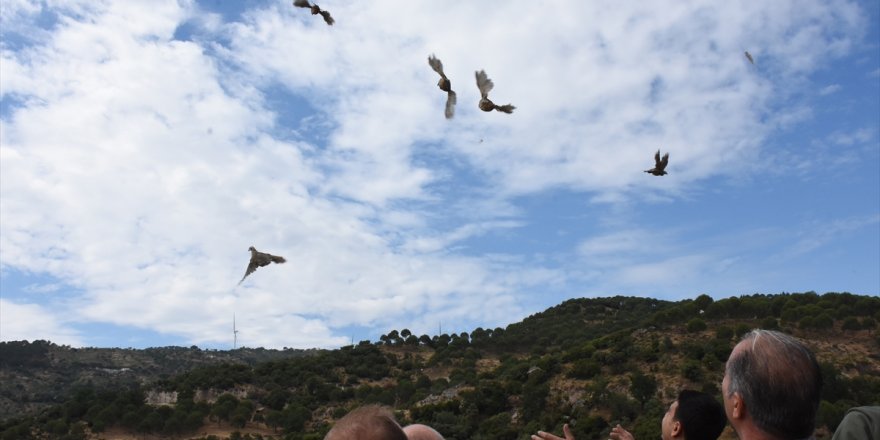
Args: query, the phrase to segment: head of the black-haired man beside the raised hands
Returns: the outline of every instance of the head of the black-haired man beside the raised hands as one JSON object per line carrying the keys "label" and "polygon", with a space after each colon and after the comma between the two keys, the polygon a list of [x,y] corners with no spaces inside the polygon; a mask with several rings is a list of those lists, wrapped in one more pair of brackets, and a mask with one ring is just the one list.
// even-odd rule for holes
{"label": "head of the black-haired man beside the raised hands", "polygon": [[716,440],[726,424],[724,407],[715,398],[682,390],[663,416],[660,431],[663,440]]}

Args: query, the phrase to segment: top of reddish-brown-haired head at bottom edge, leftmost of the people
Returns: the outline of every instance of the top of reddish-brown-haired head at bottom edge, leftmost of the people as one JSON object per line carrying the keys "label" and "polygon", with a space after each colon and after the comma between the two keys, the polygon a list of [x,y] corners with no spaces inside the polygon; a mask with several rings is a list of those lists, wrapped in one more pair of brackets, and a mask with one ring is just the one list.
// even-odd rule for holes
{"label": "top of reddish-brown-haired head at bottom edge, leftmost of the people", "polygon": [[339,419],[324,440],[407,440],[394,415],[378,405],[362,406]]}

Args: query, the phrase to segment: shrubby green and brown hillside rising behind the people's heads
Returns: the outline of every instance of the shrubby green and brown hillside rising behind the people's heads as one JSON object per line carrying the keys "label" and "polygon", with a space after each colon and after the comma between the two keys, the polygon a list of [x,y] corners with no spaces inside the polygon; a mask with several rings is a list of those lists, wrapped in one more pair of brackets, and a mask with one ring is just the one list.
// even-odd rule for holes
{"label": "shrubby green and brown hillside rising behind the people's heads", "polygon": [[[503,329],[393,330],[308,356],[78,383],[62,402],[0,423],[0,439],[84,439],[110,428],[181,438],[199,436],[204,424],[240,430],[231,438],[320,439],[366,403],[391,406],[401,422],[430,424],[450,439],[528,438],[566,422],[577,438],[607,437],[616,423],[654,438],[679,389],[720,394],[730,349],[755,327],[795,334],[817,353],[823,436],[849,407],[880,404],[878,320],[880,298],[848,293],[574,299]],[[52,349],[0,344],[0,367],[45,367]],[[172,402],[157,403],[157,395]]]}

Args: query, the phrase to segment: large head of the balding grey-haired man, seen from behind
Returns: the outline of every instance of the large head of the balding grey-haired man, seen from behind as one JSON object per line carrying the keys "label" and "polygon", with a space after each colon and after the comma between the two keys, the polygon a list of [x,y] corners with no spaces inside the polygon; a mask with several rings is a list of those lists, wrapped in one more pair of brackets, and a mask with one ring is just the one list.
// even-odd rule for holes
{"label": "large head of the balding grey-haired man, seen from behind", "polygon": [[753,330],[730,352],[721,390],[740,438],[757,430],[777,439],[802,439],[815,428],[822,373],[797,339]]}

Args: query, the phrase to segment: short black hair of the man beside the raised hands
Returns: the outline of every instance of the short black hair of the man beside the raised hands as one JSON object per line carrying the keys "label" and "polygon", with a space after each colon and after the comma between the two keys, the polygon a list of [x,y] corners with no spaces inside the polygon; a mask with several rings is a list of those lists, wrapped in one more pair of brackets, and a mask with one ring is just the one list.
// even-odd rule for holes
{"label": "short black hair of the man beside the raised hands", "polygon": [[682,390],[677,401],[673,419],[681,422],[687,440],[716,440],[724,431],[727,415],[716,398],[699,391]]}

